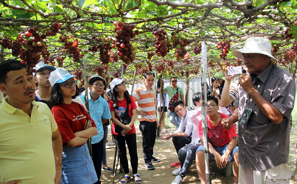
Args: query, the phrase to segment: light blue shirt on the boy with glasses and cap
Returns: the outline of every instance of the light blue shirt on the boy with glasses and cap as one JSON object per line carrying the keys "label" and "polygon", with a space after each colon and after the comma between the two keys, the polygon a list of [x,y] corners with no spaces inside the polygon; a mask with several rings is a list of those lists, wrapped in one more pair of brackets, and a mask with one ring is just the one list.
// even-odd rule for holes
{"label": "light blue shirt on the boy with glasses and cap", "polygon": [[[85,103],[84,94],[80,95],[79,98]],[[110,119],[110,109],[107,101],[103,99],[101,96],[93,102],[91,99],[91,95],[89,92],[89,108],[90,108],[90,116],[92,120],[95,121],[97,126],[98,133],[92,137],[92,144],[99,143],[103,139],[104,131],[102,126],[102,119]]]}

